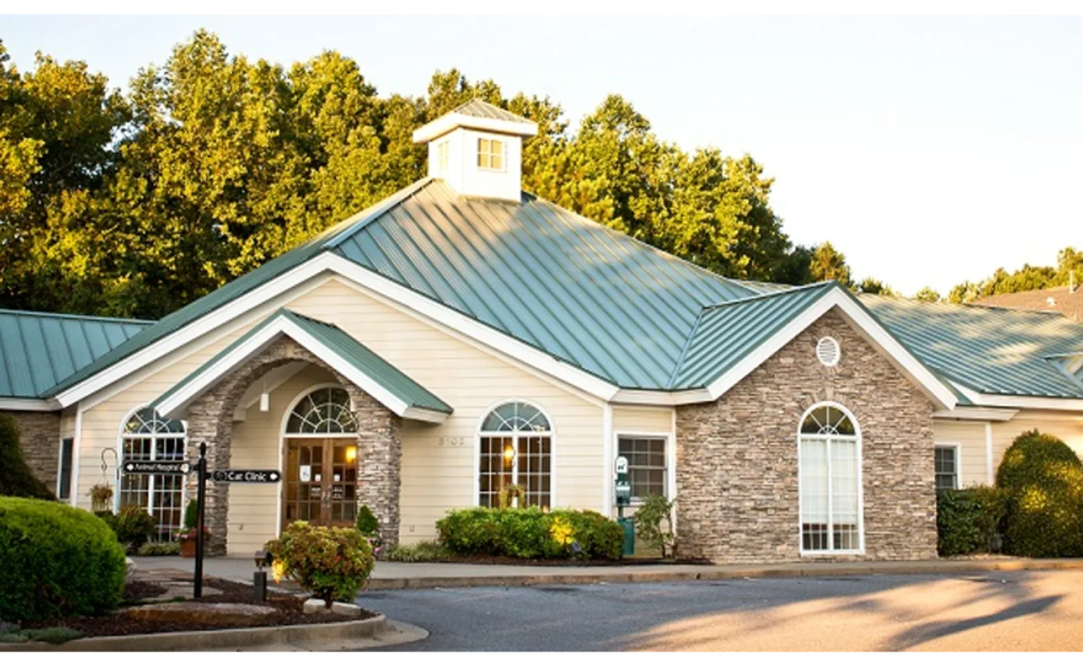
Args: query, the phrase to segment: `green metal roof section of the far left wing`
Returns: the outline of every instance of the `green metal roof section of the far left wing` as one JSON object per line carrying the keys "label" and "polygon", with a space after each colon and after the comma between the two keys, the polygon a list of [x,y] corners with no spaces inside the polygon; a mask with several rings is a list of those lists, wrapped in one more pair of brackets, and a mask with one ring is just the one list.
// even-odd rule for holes
{"label": "green metal roof section of the far left wing", "polygon": [[0,397],[40,397],[151,323],[0,310]]}

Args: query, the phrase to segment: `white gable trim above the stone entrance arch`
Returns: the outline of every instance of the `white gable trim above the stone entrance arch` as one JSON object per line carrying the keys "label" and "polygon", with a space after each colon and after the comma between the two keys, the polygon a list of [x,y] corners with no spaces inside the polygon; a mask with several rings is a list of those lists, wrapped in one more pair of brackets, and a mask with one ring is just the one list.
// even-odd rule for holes
{"label": "white gable trim above the stone entrance arch", "polygon": [[236,347],[224,353],[222,357],[218,358],[211,365],[197,369],[196,376],[191,381],[179,384],[172,392],[168,392],[158,400],[155,400],[153,406],[164,416],[180,417],[181,413],[190,404],[209,390],[231,369],[257,355],[283,336],[289,337],[311,351],[313,355],[327,363],[327,365],[348,378],[357,388],[370,394],[377,402],[388,407],[388,409],[397,416],[426,420],[428,422],[443,422],[448,416],[446,413],[407,404],[367,374],[344,361],[338,353],[310,335],[301,326],[290,321],[285,313],[272,315],[262,325],[261,329],[252,330],[248,339],[239,340]]}

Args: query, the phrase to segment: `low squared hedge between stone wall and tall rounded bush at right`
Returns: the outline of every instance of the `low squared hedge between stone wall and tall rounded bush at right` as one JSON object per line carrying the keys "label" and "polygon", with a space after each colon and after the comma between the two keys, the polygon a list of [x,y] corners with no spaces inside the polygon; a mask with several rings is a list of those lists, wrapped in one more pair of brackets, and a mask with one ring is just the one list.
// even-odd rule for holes
{"label": "low squared hedge between stone wall and tall rounded bush at right", "polygon": [[1005,510],[999,487],[937,492],[937,551],[941,557],[991,551]]}

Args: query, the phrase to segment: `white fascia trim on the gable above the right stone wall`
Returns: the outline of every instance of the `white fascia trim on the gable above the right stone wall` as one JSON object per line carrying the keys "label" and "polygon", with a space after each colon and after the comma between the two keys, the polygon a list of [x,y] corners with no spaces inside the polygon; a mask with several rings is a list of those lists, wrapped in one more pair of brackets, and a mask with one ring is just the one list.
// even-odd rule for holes
{"label": "white fascia trim on the gable above the right stone wall", "polygon": [[712,400],[717,400],[733,388],[741,379],[748,376],[753,369],[759,367],[769,357],[778,353],[779,350],[812,325],[813,322],[826,314],[832,308],[838,308],[871,341],[883,349],[892,363],[913,378],[923,392],[940,408],[951,409],[955,407],[958,401],[951,389],[944,386],[928,367],[899,343],[864,308],[843,292],[843,287],[840,286],[835,286],[824,294],[804,312],[795,316],[793,321],[745,355],[741,362],[715,379],[707,387]]}

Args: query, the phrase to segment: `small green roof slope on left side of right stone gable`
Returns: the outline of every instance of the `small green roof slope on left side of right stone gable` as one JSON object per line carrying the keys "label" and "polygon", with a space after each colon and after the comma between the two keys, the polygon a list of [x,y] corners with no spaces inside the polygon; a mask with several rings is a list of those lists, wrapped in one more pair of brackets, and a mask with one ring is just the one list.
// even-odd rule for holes
{"label": "small green roof slope on left side of right stone gable", "polygon": [[669,387],[706,387],[837,286],[822,282],[705,308]]}

